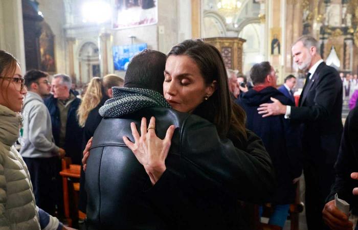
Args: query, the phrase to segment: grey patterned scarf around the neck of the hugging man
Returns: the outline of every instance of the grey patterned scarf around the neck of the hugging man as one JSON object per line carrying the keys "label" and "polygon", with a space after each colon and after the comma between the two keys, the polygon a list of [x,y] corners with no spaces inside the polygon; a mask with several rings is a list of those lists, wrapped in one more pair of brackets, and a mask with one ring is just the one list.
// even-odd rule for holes
{"label": "grey patterned scarf around the neck of the hugging man", "polygon": [[148,107],[171,108],[163,95],[144,88],[113,87],[113,98],[99,109],[104,118],[120,118],[126,114]]}

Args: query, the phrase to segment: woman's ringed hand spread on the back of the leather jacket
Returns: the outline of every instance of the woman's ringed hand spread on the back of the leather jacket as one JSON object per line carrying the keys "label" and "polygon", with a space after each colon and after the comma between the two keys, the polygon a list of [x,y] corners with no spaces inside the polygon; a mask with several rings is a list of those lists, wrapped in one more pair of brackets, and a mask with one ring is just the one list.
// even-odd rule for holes
{"label": "woman's ringed hand spread on the back of the leather jacket", "polygon": [[[169,126],[164,140],[161,140],[155,134],[155,118],[151,117],[147,129],[147,120],[142,118],[141,136],[137,131],[135,123],[130,123],[132,135],[135,143],[129,141],[128,137],[123,136],[124,143],[135,154],[139,163],[144,166],[145,171],[149,175],[152,185],[159,180],[166,170],[165,159],[168,156],[171,145],[171,138],[174,133],[174,125]],[[83,157],[84,158],[84,157]]]}

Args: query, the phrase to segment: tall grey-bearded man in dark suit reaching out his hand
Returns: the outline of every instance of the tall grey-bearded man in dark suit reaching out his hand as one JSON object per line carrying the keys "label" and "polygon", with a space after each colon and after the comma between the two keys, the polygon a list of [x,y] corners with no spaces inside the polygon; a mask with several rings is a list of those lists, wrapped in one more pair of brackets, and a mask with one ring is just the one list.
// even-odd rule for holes
{"label": "tall grey-bearded man in dark suit reaching out his hand", "polygon": [[326,229],[322,221],[325,199],[334,181],[333,165],[338,155],[342,125],[342,81],[338,72],[323,62],[317,40],[300,37],[292,47],[294,61],[308,71],[299,106],[261,104],[263,117],[285,114],[286,119],[302,122],[303,172],[308,229]]}

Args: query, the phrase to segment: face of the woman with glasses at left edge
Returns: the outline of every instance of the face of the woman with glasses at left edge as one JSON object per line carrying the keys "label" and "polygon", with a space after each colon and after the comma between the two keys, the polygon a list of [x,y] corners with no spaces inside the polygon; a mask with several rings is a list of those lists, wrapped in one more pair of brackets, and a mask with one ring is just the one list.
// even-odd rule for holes
{"label": "face of the woman with glasses at left edge", "polygon": [[23,89],[21,89],[21,81],[16,80],[16,78],[23,77],[21,74],[20,66],[16,64],[16,71],[13,76],[3,76],[3,74],[1,74],[1,77],[9,77],[12,79],[0,79],[0,84],[1,82],[3,82],[0,85],[0,104],[8,107],[14,112],[21,111],[21,107],[23,107],[24,97],[27,93],[27,90],[26,87],[23,87]]}

